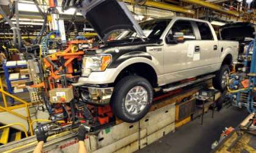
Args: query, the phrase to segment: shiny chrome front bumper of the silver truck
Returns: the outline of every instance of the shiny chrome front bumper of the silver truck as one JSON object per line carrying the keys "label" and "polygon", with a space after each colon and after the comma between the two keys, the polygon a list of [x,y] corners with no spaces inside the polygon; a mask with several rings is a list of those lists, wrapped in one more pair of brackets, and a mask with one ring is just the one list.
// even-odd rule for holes
{"label": "shiny chrome front bumper of the silver truck", "polygon": [[80,97],[85,103],[93,105],[105,105],[110,103],[114,87],[79,87]]}

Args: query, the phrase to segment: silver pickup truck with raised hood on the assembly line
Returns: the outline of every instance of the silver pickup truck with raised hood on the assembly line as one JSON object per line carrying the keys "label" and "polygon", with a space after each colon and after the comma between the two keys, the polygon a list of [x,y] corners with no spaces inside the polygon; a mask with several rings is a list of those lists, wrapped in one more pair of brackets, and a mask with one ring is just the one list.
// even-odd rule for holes
{"label": "silver pickup truck with raised hood on the assembly line", "polygon": [[86,103],[110,104],[116,117],[135,122],[151,107],[154,89],[168,91],[169,84],[206,74],[215,74],[216,89],[226,88],[238,42],[218,41],[209,22],[174,16],[138,24],[123,2],[82,6],[103,42],[84,56],[79,91]]}

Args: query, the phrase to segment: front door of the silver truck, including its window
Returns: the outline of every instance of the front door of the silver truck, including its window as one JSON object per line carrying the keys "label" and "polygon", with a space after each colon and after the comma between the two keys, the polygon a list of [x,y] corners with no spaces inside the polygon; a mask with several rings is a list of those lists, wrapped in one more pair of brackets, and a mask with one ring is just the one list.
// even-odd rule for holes
{"label": "front door of the silver truck, including its window", "polygon": [[191,21],[177,20],[174,22],[169,33],[174,35],[177,32],[183,33],[184,42],[165,44],[164,47],[165,79],[168,83],[193,77],[189,67],[194,67],[194,64],[188,63],[188,58],[193,58],[193,53],[196,49],[196,35]]}

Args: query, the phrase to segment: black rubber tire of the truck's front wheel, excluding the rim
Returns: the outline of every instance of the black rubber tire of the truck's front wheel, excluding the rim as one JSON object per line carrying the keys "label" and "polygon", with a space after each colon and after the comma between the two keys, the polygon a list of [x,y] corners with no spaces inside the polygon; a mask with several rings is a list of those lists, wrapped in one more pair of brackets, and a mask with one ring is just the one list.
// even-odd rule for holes
{"label": "black rubber tire of the truck's front wheel, excluding the rim", "polygon": [[[146,106],[138,114],[132,114],[127,110],[125,106],[125,99],[130,90],[134,89],[133,87],[143,87],[142,89],[147,91],[148,100]],[[140,88],[141,89],[141,88]],[[145,97],[144,97],[145,99]],[[115,90],[112,95],[111,106],[114,115],[128,123],[133,123],[139,121],[143,118],[149,111],[153,100],[153,89],[148,80],[139,76],[128,76],[121,79],[115,86]],[[137,103],[137,102],[132,102]],[[138,110],[138,107],[136,107]],[[133,109],[132,109],[133,110]]]}

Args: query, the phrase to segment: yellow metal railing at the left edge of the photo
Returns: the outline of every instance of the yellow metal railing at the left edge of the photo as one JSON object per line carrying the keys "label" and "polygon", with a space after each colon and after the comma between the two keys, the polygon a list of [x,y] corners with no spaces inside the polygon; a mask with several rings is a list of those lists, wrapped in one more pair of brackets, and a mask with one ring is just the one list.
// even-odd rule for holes
{"label": "yellow metal railing at the left edge of the photo", "polygon": [[[30,106],[30,103],[27,103],[27,101],[24,101],[21,98],[18,98],[16,96],[10,94],[9,92],[6,92],[4,90],[4,87],[2,86],[1,77],[0,77],[0,92],[2,94],[2,100],[4,102],[4,106],[0,106],[0,110],[4,110],[5,112],[9,112],[10,114],[15,115],[16,117],[20,117],[23,120],[26,120],[30,124],[32,122],[31,118],[30,118],[29,107],[28,107],[28,106]],[[20,103],[23,103],[22,107],[25,107],[26,116],[24,116],[23,114],[14,112],[12,109],[10,109],[12,106],[11,107],[8,106],[6,96],[9,96],[9,97],[13,98],[14,100],[19,101]],[[26,128],[25,128],[24,132],[26,132]]]}

